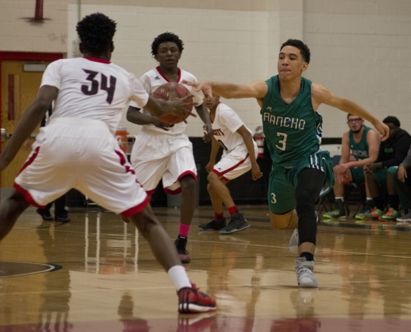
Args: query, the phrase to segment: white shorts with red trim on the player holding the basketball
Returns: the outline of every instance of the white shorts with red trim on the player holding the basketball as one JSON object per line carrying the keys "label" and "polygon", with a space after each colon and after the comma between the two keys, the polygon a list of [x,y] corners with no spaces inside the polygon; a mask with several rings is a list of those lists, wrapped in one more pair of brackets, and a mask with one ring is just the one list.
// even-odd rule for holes
{"label": "white shorts with red trim on the player holding the basketball", "polygon": [[160,180],[166,193],[181,192],[179,179],[187,174],[197,180],[192,143],[186,134],[155,134],[142,130],[136,137],[131,162],[136,177],[153,193]]}

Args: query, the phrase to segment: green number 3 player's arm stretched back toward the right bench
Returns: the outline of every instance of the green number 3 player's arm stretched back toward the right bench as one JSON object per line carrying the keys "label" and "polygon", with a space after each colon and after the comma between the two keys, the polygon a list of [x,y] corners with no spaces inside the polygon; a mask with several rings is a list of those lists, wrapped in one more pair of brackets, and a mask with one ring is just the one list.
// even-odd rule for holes
{"label": "green number 3 player's arm stretched back toward the right bench", "polygon": [[344,112],[351,113],[353,115],[358,115],[362,119],[366,119],[370,121],[374,128],[379,132],[382,136],[382,141],[388,139],[389,128],[388,126],[371,115],[365,108],[358,105],[356,102],[353,102],[350,99],[340,97],[338,95],[334,95],[331,93],[325,86],[321,84],[312,84],[311,86],[311,94],[312,94],[312,106],[314,110],[320,106],[320,104],[327,104],[329,106],[338,108],[339,110],[343,110]]}

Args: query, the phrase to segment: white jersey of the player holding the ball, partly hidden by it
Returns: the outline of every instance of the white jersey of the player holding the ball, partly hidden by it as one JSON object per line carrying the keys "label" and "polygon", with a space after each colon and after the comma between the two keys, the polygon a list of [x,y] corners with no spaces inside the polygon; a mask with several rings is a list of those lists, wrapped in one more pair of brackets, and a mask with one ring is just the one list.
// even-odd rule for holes
{"label": "white jersey of the player holding the ball, partly hidden by it", "polygon": [[[145,88],[145,91],[149,93],[149,95],[153,95],[154,91],[159,87],[162,86],[163,84],[169,83],[170,81],[166,78],[166,76],[162,73],[160,70],[160,67],[156,67],[154,69],[151,69],[151,71],[147,71],[144,75],[142,75],[139,79],[140,83],[142,84],[143,88]],[[188,91],[194,96],[193,100],[195,103],[195,106],[199,106],[203,104],[203,98],[204,95],[201,91],[197,92],[195,91],[195,88],[192,86],[189,86],[187,84],[183,84],[182,81],[185,80],[187,82],[198,82],[197,78],[195,75],[192,75],[191,73],[188,73],[188,71],[184,71],[182,69],[178,69],[178,80],[177,83],[182,84],[188,88]],[[130,106],[140,108],[139,106],[136,105],[134,102],[130,102]],[[149,114],[147,110],[142,110],[146,114]],[[187,121],[190,121],[190,117],[187,118]],[[173,127],[170,128],[169,131],[162,130],[161,128],[157,128],[151,124],[149,125],[143,125],[143,130],[154,130],[155,132],[161,133],[161,134],[181,134],[184,132],[186,129],[186,123],[180,122],[176,123]]]}

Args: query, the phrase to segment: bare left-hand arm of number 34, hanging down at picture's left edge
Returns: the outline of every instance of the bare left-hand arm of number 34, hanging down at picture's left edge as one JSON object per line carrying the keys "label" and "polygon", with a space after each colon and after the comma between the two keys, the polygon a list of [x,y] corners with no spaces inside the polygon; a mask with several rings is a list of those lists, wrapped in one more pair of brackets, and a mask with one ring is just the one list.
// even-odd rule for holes
{"label": "bare left-hand arm of number 34, hanging down at picture's left edge", "polygon": [[55,86],[44,85],[40,88],[36,99],[25,110],[8,145],[0,154],[0,171],[3,171],[12,162],[21,145],[36,129],[57,95],[58,88]]}

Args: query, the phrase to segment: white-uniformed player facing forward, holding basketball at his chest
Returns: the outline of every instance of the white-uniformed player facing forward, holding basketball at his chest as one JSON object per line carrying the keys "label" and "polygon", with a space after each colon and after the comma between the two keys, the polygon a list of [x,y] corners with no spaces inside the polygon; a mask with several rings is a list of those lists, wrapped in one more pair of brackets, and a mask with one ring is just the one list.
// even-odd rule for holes
{"label": "white-uniformed player facing forward, holding basketball at his chest", "polygon": [[[159,62],[159,66],[151,69],[140,78],[142,86],[149,95],[162,84],[182,81],[197,82],[191,73],[177,67],[184,49],[180,38],[171,32],[164,32],[154,38],[151,44],[151,54]],[[206,132],[204,141],[210,141],[212,130],[210,115],[203,104],[203,93],[183,84],[191,91],[195,109],[204,123]],[[142,125],[142,130],[136,138],[130,161],[138,181],[147,193],[154,193],[160,180],[164,191],[170,194],[182,193],[180,205],[180,223],[175,246],[182,263],[190,263],[186,250],[187,237],[190,232],[192,216],[195,211],[195,190],[197,167],[192,154],[192,143],[184,134],[186,121],[170,126],[153,117],[147,110],[131,102],[127,111],[127,120]]]}

